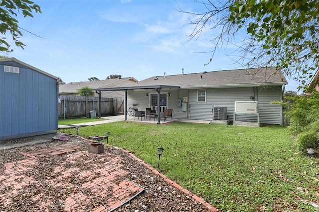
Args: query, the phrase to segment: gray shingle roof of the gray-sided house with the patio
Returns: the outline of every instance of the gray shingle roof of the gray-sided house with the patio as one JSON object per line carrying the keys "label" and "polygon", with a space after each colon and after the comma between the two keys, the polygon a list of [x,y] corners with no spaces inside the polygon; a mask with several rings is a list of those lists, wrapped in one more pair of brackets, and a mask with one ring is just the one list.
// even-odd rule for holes
{"label": "gray shingle roof of the gray-sided house with the patio", "polygon": [[135,86],[95,90],[255,87],[285,85],[287,83],[283,73],[276,68],[253,68],[155,76],[139,81]]}

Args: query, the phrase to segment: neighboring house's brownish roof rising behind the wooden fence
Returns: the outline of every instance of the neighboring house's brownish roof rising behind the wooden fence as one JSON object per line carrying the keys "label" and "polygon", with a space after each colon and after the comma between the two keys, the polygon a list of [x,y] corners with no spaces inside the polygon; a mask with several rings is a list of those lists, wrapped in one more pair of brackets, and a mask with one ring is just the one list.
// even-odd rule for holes
{"label": "neighboring house's brownish roof rising behind the wooden fence", "polygon": [[114,78],[106,80],[81,81],[71,82],[59,86],[60,94],[77,94],[78,89],[82,87],[89,87],[93,89],[108,88],[108,87],[123,87],[136,84],[137,80],[133,77]]}

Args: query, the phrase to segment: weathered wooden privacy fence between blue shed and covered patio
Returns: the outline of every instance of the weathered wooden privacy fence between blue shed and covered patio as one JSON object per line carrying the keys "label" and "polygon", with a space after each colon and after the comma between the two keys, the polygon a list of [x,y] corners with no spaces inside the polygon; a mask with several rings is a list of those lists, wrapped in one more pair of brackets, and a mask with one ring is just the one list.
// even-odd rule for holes
{"label": "weathered wooden privacy fence between blue shed and covered patio", "polygon": [[[85,97],[75,95],[59,95],[62,110],[59,111],[59,118],[75,118],[87,117],[85,106],[86,98],[88,99],[88,113],[92,110],[99,114],[99,98]],[[116,106],[116,108],[115,108]],[[113,98],[101,98],[101,116],[120,115],[123,114],[123,100]]]}

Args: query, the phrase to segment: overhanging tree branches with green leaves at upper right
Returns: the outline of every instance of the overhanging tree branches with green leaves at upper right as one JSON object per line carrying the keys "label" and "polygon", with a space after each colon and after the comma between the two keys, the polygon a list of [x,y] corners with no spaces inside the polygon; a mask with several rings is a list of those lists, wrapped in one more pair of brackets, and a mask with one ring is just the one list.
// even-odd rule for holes
{"label": "overhanging tree branches with green leaves at upper right", "polygon": [[[211,40],[216,46],[236,40],[240,55],[234,55],[238,61],[242,59],[245,64],[258,67],[278,67],[288,77],[296,77],[304,84],[309,82],[309,75],[302,70],[314,72],[319,67],[318,0],[223,2],[209,1],[205,4],[207,13],[193,13],[199,16],[198,21],[191,21],[196,25],[193,35],[200,35],[204,28],[216,31],[222,28]],[[246,33],[248,37],[243,36]],[[216,47],[213,54],[215,51]]]}

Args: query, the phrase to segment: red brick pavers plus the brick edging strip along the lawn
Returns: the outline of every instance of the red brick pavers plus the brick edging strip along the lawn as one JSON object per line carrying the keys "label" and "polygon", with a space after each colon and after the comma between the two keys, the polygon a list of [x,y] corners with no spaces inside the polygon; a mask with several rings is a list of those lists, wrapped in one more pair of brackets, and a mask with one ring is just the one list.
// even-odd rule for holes
{"label": "red brick pavers plus the brick edging strip along the lawn", "polygon": [[[5,194],[0,194],[0,201],[5,204],[11,203],[11,197],[14,195],[21,195],[25,187],[30,184],[36,184],[36,180],[32,179],[31,177],[26,177],[23,175],[24,172],[32,169],[32,166],[35,166],[37,162],[37,157],[43,157],[45,154],[50,154],[52,156],[59,156],[63,154],[67,154],[67,160],[70,163],[76,163],[77,158],[81,158],[86,154],[90,154],[87,151],[76,151],[80,148],[74,144],[62,144],[58,146],[54,146],[47,149],[40,149],[37,151],[30,151],[30,152],[21,152],[21,154],[29,157],[29,159],[24,159],[21,161],[15,161],[12,163],[5,164],[5,170],[2,174],[0,174],[0,188],[5,188],[8,191]],[[146,163],[144,163],[141,159],[137,158],[134,154],[129,151],[123,150],[126,153],[130,154],[135,160],[142,163],[144,166],[149,168],[154,174],[159,175],[162,177],[166,182],[168,182],[171,186],[176,187],[177,189],[181,190],[186,195],[190,196],[191,198],[195,199],[200,204],[203,204],[207,209],[212,212],[217,212],[218,209],[214,208],[209,203],[205,202],[204,199],[194,195],[190,191],[186,190],[182,186],[178,185],[176,182],[170,180],[165,175],[150,167]],[[99,198],[107,199],[107,203],[104,206],[96,206],[93,209],[93,212],[107,212],[109,210],[113,210],[123,203],[128,201],[131,197],[133,197],[138,192],[141,192],[143,188],[134,182],[123,180],[121,182],[115,183],[113,180],[117,179],[117,176],[125,176],[127,172],[122,170],[120,158],[112,158],[108,157],[107,154],[104,154],[105,158],[101,158],[99,163],[103,164],[103,168],[98,168],[95,170],[95,173],[87,170],[80,170],[79,168],[67,168],[64,167],[65,163],[61,163],[60,166],[54,167],[54,172],[60,175],[55,180],[67,179],[68,177],[72,176],[72,173],[79,173],[77,174],[79,179],[86,179],[88,182],[85,182],[81,185],[83,189],[89,189],[92,195],[88,197],[84,193],[72,193],[69,194],[64,200],[64,211],[86,211],[85,207],[88,203],[92,201],[96,201]],[[106,161],[106,162],[105,162]],[[103,163],[104,162],[104,163]],[[84,163],[94,163],[92,161],[85,161]],[[93,177],[99,174],[99,178]],[[56,183],[55,180],[48,180],[49,183],[54,184],[55,187],[65,188],[67,186],[72,186],[72,183],[67,182],[59,182]],[[112,188],[112,191],[110,191]],[[33,197],[34,201],[38,201],[41,203],[42,211],[49,211],[48,205],[53,205],[52,201],[47,200],[44,202],[42,199],[43,194],[38,194]],[[107,198],[106,198],[107,197]]]}

